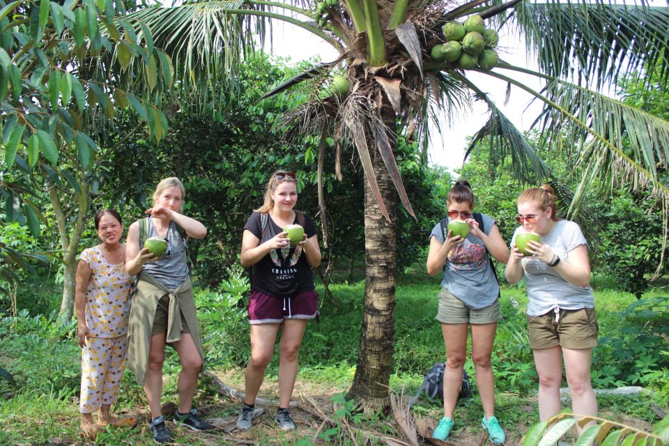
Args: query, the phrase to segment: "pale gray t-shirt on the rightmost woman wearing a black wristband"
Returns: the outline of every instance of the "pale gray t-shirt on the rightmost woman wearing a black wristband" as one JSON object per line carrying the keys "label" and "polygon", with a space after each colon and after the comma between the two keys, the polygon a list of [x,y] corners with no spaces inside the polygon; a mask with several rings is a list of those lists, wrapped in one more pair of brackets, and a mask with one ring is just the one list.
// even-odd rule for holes
{"label": "pale gray t-shirt on the rightmost woman wearing a black wristband", "polygon": [[[516,234],[523,232],[516,228],[511,245],[516,243]],[[541,237],[541,244],[548,244],[560,261],[569,263],[569,252],[580,245],[587,247],[587,242],[575,222],[558,220],[547,236]],[[528,281],[528,315],[541,316],[560,309],[594,308],[594,296],[590,286],[581,287],[570,284],[555,272],[552,266],[537,259],[522,260],[525,277]]]}

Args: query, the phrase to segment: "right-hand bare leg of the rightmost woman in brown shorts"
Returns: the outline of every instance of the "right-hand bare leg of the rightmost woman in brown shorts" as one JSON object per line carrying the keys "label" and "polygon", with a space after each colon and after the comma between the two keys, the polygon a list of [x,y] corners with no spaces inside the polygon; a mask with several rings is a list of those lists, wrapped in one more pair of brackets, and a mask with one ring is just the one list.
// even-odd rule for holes
{"label": "right-hand bare leg of the rightmost woman in brown shorts", "polygon": [[[592,348],[573,350],[562,348],[564,369],[567,372],[567,384],[571,390],[571,411],[580,415],[597,415],[597,397],[590,382],[590,360]],[[576,417],[578,420],[579,417]],[[594,422],[586,424],[590,426]],[[576,425],[580,434],[583,429]]]}

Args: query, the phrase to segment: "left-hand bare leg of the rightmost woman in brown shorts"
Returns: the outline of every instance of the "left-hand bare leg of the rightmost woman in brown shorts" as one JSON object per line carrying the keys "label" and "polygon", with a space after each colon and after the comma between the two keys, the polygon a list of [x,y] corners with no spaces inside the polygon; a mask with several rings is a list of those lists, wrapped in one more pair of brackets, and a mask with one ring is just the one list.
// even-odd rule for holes
{"label": "left-hand bare leg of the rightmost woman in brown shorts", "polygon": [[560,412],[562,355],[560,346],[537,348],[532,353],[539,374],[539,420],[546,421]]}

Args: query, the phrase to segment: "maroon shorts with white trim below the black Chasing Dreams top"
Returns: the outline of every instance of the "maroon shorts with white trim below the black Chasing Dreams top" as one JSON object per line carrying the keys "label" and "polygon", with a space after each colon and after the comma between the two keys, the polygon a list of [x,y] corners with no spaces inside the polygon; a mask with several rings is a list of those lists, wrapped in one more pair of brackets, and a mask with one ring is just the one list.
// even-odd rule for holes
{"label": "maroon shorts with white trim below the black Chasing Dreams top", "polygon": [[249,298],[249,323],[282,323],[284,319],[315,319],[318,314],[318,293],[305,291],[293,298],[275,298],[272,295],[251,291]]}

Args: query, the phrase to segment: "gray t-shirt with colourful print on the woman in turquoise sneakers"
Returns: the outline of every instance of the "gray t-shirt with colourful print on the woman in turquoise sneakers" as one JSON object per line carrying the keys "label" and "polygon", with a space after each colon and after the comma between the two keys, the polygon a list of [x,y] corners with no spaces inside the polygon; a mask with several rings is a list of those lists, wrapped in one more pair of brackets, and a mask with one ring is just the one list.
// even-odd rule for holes
{"label": "gray t-shirt with colourful print on the woman in turquoise sneakers", "polygon": [[[484,227],[481,229],[489,236],[495,220],[485,214],[482,217]],[[447,224],[444,225],[444,231],[448,233]],[[436,238],[443,245],[445,234],[441,232],[439,223],[432,229],[430,237]],[[448,253],[441,286],[470,308],[490,307],[497,300],[500,286],[491,270],[488,256],[483,240],[470,233],[463,243]]]}

